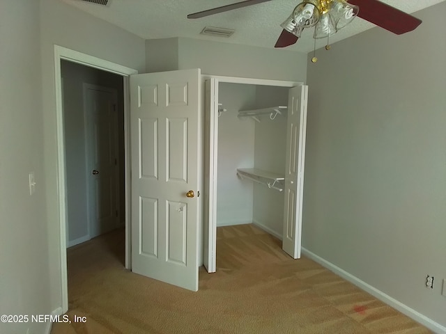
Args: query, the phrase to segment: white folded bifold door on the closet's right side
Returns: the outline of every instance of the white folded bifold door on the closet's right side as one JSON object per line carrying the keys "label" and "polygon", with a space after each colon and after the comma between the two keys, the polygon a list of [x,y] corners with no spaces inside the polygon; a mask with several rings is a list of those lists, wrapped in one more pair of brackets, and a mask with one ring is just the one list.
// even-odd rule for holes
{"label": "white folded bifold door on the closet's right side", "polygon": [[289,90],[282,249],[300,257],[308,86]]}

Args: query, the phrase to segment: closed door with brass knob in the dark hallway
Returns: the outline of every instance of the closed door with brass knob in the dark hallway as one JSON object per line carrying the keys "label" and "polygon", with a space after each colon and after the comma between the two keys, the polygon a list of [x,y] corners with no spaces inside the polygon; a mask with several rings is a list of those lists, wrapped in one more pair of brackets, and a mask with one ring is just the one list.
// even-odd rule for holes
{"label": "closed door with brass knob in the dark hallway", "polygon": [[111,88],[84,84],[89,237],[118,227],[118,111]]}

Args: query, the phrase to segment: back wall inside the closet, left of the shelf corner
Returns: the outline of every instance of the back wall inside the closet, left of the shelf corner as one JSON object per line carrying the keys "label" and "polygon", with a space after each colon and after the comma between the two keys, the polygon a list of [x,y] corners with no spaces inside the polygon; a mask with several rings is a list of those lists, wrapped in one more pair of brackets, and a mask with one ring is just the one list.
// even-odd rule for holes
{"label": "back wall inside the closet, left of the shelf corner", "polygon": [[254,166],[254,122],[238,111],[253,109],[255,86],[219,85],[226,112],[218,118],[217,226],[252,223],[252,182],[239,180],[237,168]]}

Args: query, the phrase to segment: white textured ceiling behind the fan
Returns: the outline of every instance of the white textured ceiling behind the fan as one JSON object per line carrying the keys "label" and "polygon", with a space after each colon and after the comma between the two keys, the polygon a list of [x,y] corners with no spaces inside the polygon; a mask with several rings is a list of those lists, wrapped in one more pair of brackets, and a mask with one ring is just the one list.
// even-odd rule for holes
{"label": "white textured ceiling behind the fan", "polygon": [[[282,31],[280,24],[300,3],[299,0],[272,0],[201,19],[187,19],[187,14],[242,0],[109,0],[107,6],[79,0],[62,1],[116,26],[121,26],[146,40],[188,37],[268,48],[274,47]],[[446,0],[382,0],[406,13],[413,13],[443,1]],[[204,26],[235,29],[236,33],[231,38],[200,35]],[[357,18],[330,37],[330,43],[372,27],[374,24]],[[323,45],[325,45],[325,40],[318,40],[316,47]],[[307,29],[298,43],[286,49],[307,53],[312,51],[313,47],[312,29]]]}

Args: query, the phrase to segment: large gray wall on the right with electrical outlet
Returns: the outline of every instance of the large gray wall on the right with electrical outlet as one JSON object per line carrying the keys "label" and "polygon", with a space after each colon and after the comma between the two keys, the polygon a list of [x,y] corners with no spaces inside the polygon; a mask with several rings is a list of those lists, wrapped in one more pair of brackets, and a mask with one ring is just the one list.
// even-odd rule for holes
{"label": "large gray wall on the right with electrical outlet", "polygon": [[305,248],[443,326],[445,13],[443,2],[415,13],[411,33],[374,28],[309,63],[302,222]]}

